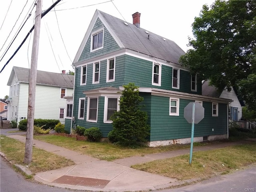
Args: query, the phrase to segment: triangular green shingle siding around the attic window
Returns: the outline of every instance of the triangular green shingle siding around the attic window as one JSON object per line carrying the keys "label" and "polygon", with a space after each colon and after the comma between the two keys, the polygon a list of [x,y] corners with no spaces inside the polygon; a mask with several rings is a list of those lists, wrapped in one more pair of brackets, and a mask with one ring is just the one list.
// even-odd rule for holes
{"label": "triangular green shingle siding around the attic window", "polygon": [[97,56],[101,56],[110,52],[114,52],[120,49],[120,47],[118,46],[114,38],[111,36],[109,31],[106,29],[106,27],[104,27],[101,20],[98,18],[92,29],[92,33],[96,32],[101,28],[104,28],[103,48],[94,52],[90,52],[91,51],[91,35],[90,35],[84,46],[84,50],[82,51],[82,54],[78,59],[78,62],[88,60],[90,58],[94,58]]}

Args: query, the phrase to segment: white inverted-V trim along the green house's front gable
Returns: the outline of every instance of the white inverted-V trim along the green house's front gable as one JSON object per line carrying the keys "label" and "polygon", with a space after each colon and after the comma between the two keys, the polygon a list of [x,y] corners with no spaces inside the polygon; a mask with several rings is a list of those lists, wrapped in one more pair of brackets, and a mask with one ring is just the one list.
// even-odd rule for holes
{"label": "white inverted-V trim along the green house's front gable", "polygon": [[[95,11],[94,13],[94,16],[92,17],[92,20],[89,24],[89,27],[84,35],[84,38],[82,40],[82,43],[80,44],[80,47],[78,48],[78,51],[76,53],[76,56],[74,58],[74,61],[73,63],[76,63],[78,62],[81,54],[82,54],[82,51],[84,50],[84,46],[86,44],[86,42],[88,41],[88,38],[90,37],[91,35],[91,32],[92,32],[92,28],[94,27],[95,23],[96,23],[96,20],[97,19],[100,19],[101,22],[104,24],[104,26],[106,27],[106,29],[110,32],[111,36],[114,38],[114,40],[117,42],[118,46],[120,48],[124,48],[124,45],[122,44],[122,42],[120,41],[120,39],[116,36],[116,34],[114,33],[114,31],[110,28],[110,26],[108,25],[108,23],[106,22],[106,20],[104,20],[104,18],[102,17],[102,15],[100,14],[100,12],[98,10]],[[104,35],[104,34],[103,34]],[[103,42],[104,43],[104,42]]]}

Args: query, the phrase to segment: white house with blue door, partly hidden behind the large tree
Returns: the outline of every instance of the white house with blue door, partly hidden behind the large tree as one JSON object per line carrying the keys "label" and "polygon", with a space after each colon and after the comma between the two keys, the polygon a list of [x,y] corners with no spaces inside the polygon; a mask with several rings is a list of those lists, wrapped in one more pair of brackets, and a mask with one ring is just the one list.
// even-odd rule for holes
{"label": "white house with blue door, partly hidden behind the large tree", "polygon": [[219,91],[216,87],[210,86],[209,81],[204,81],[202,83],[202,95],[232,100],[228,105],[228,118],[234,121],[242,118],[242,106],[244,106],[244,102],[238,99],[236,89],[233,87],[224,88],[222,91]]}

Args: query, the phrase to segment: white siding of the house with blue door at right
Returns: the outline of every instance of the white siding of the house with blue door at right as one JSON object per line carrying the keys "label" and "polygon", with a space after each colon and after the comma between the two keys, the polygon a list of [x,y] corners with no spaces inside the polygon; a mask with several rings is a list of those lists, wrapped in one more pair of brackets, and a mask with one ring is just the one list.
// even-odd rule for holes
{"label": "white siding of the house with blue door at right", "polygon": [[236,96],[236,93],[232,87],[231,91],[228,91],[227,89],[222,91],[220,98],[225,98],[225,99],[232,99],[233,102],[229,104],[230,107],[237,107],[238,108],[238,120],[242,118],[242,106]]}

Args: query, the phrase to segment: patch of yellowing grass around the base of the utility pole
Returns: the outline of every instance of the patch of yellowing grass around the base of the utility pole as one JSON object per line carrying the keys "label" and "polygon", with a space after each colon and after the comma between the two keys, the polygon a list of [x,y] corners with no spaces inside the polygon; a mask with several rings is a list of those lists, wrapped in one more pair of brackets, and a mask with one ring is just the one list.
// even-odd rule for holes
{"label": "patch of yellowing grass around the base of the utility pole", "polygon": [[[1,135],[0,149],[6,155],[6,158],[13,164],[25,165],[23,163],[25,154],[25,144],[15,139]],[[54,170],[65,166],[71,166],[74,162],[62,156],[33,147],[32,162],[29,169],[33,172],[42,172]]]}

